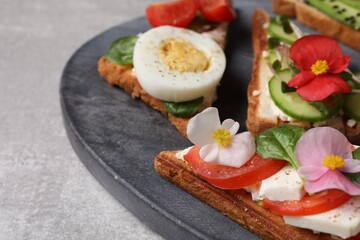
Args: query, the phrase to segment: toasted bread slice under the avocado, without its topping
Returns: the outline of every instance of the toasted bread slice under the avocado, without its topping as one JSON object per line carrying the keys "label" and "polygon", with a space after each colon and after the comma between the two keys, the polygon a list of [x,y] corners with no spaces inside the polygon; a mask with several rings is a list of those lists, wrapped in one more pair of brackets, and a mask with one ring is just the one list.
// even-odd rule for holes
{"label": "toasted bread slice under the avocado, without its topping", "polygon": [[273,0],[272,8],[275,13],[296,17],[304,25],[360,51],[360,31],[327,16],[304,1]]}

